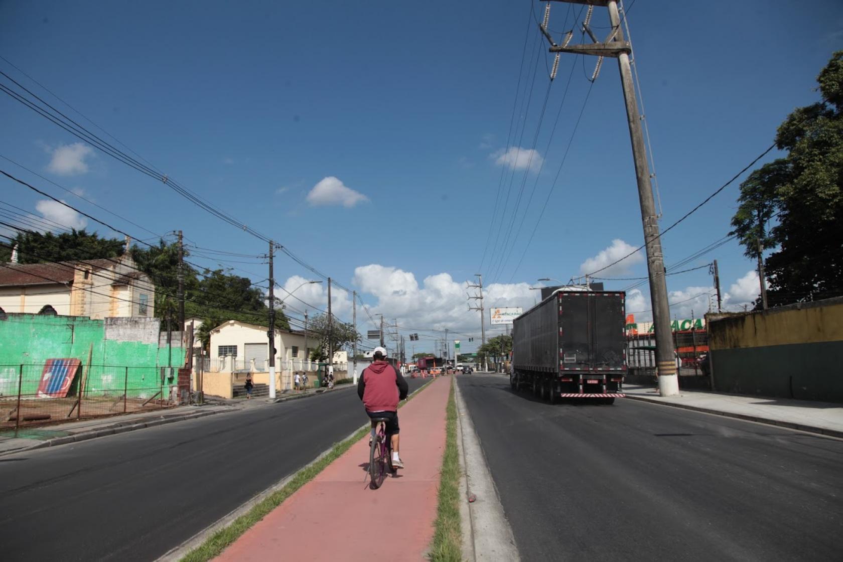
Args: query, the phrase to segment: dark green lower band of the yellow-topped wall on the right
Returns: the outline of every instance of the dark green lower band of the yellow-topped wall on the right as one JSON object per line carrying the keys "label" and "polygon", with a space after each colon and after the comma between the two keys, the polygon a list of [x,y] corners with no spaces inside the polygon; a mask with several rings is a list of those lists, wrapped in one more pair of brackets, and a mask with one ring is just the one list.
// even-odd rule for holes
{"label": "dark green lower band of the yellow-topped wall on the right", "polygon": [[711,351],[716,390],[843,402],[843,341]]}

